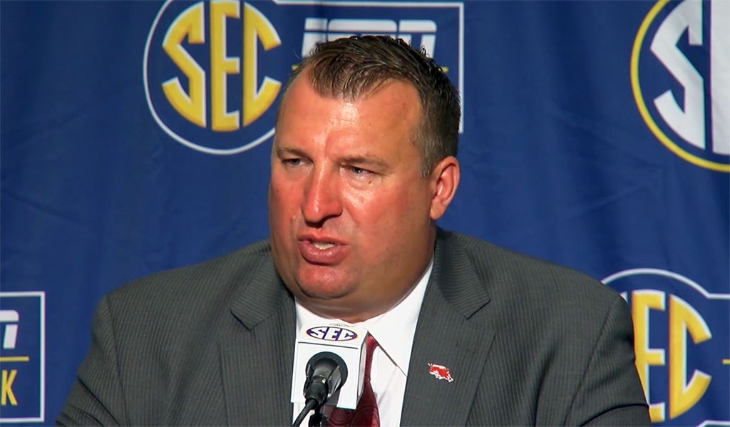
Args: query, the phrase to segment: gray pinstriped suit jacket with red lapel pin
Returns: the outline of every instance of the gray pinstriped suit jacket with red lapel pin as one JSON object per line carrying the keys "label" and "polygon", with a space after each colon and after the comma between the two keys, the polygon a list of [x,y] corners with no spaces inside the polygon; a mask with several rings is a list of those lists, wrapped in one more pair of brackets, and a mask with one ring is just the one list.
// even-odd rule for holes
{"label": "gray pinstriped suit jacket with red lapel pin", "polygon": [[[131,282],[99,303],[57,422],[291,425],[295,322],[267,242]],[[401,425],[649,425],[632,334],[601,283],[439,230]]]}

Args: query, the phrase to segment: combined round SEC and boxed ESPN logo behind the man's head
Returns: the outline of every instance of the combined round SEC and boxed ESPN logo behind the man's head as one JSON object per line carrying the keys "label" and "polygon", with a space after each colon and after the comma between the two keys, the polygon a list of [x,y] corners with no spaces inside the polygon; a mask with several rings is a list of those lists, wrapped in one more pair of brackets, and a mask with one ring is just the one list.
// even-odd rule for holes
{"label": "combined round SEC and boxed ESPN logo behind the man's head", "polygon": [[242,153],[273,136],[283,82],[322,40],[399,36],[424,47],[464,93],[463,22],[461,2],[168,0],[145,44],[147,107],[186,147]]}

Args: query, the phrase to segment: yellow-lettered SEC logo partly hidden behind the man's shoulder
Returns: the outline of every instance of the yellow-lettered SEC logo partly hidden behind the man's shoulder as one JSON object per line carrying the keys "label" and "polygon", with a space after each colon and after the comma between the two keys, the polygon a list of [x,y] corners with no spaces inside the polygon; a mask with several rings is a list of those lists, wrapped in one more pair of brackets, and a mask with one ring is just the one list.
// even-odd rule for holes
{"label": "yellow-lettered SEC logo partly hidden behind the man's shoulder", "polygon": [[602,281],[631,308],[652,423],[730,425],[730,294],[663,269],[629,269]]}

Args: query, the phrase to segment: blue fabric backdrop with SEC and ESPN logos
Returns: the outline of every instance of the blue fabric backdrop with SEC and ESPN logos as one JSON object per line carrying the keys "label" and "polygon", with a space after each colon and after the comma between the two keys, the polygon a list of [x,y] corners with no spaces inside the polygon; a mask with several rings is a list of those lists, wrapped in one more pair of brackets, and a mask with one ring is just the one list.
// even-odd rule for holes
{"label": "blue fabric backdrop with SEC and ESPN logos", "polygon": [[53,422],[102,294],[267,236],[280,84],[367,33],[463,94],[441,225],[623,293],[653,421],[730,426],[730,1],[1,1],[0,31],[0,422]]}

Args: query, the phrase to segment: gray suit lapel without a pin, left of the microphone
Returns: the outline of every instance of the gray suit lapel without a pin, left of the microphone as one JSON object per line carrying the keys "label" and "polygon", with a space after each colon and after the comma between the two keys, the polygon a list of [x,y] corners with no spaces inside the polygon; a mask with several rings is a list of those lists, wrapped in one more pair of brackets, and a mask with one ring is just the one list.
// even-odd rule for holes
{"label": "gray suit lapel without a pin, left of the microphone", "polygon": [[271,258],[234,296],[220,364],[231,426],[289,426],[296,313]]}

